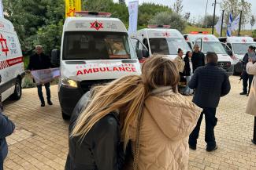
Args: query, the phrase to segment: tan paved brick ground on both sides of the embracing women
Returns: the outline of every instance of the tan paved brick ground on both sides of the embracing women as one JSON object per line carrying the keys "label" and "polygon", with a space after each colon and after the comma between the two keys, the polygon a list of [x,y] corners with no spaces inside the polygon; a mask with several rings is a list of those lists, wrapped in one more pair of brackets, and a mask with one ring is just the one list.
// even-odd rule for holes
{"label": "tan paved brick ground on both sides of the embracing women", "polygon": [[[202,121],[198,148],[190,150],[189,170],[256,170],[256,146],[250,142],[254,117],[244,114],[247,96],[239,96],[242,87],[238,84],[239,77],[230,79],[232,91],[221,99],[217,109],[218,149],[206,152]],[[61,118],[57,86],[51,86],[51,90],[53,106],[40,107],[36,89],[24,89],[22,99],[4,103],[5,114],[17,125],[16,132],[8,138],[5,170],[64,169],[69,123]]]}

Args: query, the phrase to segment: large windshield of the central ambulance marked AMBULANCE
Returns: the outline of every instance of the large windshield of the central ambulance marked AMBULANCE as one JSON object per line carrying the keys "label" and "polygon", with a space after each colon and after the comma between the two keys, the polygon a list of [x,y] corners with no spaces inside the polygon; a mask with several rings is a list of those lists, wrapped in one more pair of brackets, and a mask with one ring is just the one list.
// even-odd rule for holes
{"label": "large windshield of the central ambulance marked AMBULANCE", "polygon": [[128,34],[103,31],[65,32],[63,60],[133,59]]}

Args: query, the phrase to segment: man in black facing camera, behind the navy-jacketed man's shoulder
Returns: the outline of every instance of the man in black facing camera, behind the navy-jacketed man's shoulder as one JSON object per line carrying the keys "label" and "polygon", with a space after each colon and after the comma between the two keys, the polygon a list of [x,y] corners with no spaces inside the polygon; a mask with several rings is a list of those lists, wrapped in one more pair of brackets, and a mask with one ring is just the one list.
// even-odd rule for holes
{"label": "man in black facing camera, behind the navy-jacketed man's shoulder", "polygon": [[193,64],[193,72],[195,72],[195,69],[198,67],[202,67],[205,65],[205,55],[200,52],[199,45],[195,44],[194,46],[194,52],[191,58],[191,62]]}

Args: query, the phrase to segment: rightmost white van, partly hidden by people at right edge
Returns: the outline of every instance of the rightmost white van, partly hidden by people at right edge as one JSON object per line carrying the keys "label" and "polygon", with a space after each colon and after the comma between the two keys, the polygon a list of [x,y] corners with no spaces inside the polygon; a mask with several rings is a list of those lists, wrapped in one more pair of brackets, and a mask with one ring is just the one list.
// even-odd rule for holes
{"label": "rightmost white van, partly hidden by people at right edge", "polygon": [[228,55],[232,56],[235,67],[234,73],[239,74],[243,71],[243,56],[247,53],[250,45],[256,46],[254,38],[251,37],[221,37],[220,42],[223,43]]}

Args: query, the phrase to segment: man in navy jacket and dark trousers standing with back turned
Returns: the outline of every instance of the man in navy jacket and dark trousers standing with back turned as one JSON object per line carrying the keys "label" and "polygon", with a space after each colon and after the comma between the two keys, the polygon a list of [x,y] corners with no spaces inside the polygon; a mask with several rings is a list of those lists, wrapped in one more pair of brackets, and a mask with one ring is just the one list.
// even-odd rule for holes
{"label": "man in navy jacket and dark trousers standing with back turned", "polygon": [[193,102],[203,109],[195,129],[189,136],[189,146],[193,150],[196,149],[202,115],[205,114],[206,150],[212,151],[217,149],[214,137],[214,126],[217,125],[216,109],[221,96],[227,95],[230,91],[230,82],[226,71],[217,67],[217,54],[215,52],[207,52],[206,59],[206,66],[198,68],[188,84],[189,88],[195,89]]}

